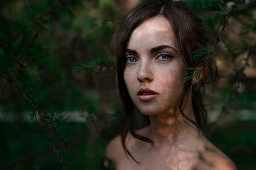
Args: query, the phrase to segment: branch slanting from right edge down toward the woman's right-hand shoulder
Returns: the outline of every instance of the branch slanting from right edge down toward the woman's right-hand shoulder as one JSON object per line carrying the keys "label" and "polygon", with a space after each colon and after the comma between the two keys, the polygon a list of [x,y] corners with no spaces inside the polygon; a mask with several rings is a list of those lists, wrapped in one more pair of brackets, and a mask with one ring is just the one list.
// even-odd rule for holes
{"label": "branch slanting from right edge down toward the woman's right-hand shoulder", "polygon": [[249,66],[248,61],[249,61],[250,56],[253,54],[253,51],[256,51],[256,43],[255,43],[255,45],[249,46],[249,52],[247,54],[247,57],[244,58],[244,61],[245,61],[244,65],[240,69],[235,70],[237,79],[235,81],[235,85],[232,87],[232,89],[230,91],[230,98],[229,98],[228,102],[222,107],[221,114],[218,116],[218,118],[215,120],[215,122],[213,122],[212,126],[210,127],[209,132],[208,132],[208,138],[210,138],[212,136],[212,134],[215,132],[217,125],[221,121],[221,119],[223,119],[224,116],[229,114],[228,108],[229,108],[230,104],[234,101],[235,96],[237,95],[237,91],[238,91],[238,88],[240,88],[241,81],[246,77],[246,75],[244,74],[244,69],[247,66]]}

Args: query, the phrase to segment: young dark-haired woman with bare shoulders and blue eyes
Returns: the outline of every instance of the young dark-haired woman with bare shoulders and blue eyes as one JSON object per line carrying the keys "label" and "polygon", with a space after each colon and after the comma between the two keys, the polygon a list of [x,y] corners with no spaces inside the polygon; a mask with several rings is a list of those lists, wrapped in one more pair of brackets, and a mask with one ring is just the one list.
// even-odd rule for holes
{"label": "young dark-haired woman with bare shoulders and blue eyes", "polygon": [[[192,55],[206,42],[200,19],[182,2],[146,0],[121,22],[115,54],[125,112],[122,134],[106,148],[115,169],[236,169],[200,130],[206,115],[200,91],[193,92],[193,86],[217,79],[215,62],[208,60],[200,80],[182,82],[192,74],[186,68],[203,64]],[[140,130],[133,127],[135,107],[149,120]]]}

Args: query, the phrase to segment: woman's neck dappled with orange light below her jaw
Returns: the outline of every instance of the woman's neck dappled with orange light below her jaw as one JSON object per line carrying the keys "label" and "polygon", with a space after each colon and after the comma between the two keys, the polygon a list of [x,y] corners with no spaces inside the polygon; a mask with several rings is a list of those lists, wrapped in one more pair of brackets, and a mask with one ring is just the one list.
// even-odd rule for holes
{"label": "woman's neck dappled with orange light below her jaw", "polygon": [[[184,111],[186,116],[196,122],[191,99],[185,105]],[[200,136],[202,133],[200,133]],[[168,142],[175,144],[180,142],[188,142],[188,139],[198,139],[197,127],[182,118],[179,111],[179,105],[174,108],[160,113],[158,115],[150,116],[150,127],[148,129],[148,136],[153,140],[155,146]]]}

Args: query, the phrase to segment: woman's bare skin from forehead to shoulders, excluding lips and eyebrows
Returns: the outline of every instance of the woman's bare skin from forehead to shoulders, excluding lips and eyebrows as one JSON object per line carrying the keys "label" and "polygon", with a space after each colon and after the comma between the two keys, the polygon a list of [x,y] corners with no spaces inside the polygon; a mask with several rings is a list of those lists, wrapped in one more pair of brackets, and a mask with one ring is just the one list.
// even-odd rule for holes
{"label": "woman's bare skin from forehead to shoulders, excluding lips and eyebrows", "polygon": [[[152,51],[152,48],[168,47]],[[109,142],[106,156],[117,170],[236,170],[235,164],[209,142],[197,127],[182,119],[179,96],[182,91],[184,64],[172,24],[162,16],[152,17],[136,28],[127,43],[124,80],[132,102],[141,113],[149,115],[150,126],[137,133],[153,140],[154,145],[133,138],[126,145],[132,156],[124,153],[121,137]],[[140,101],[140,88],[159,93],[150,101]],[[184,113],[195,121],[191,94]]]}

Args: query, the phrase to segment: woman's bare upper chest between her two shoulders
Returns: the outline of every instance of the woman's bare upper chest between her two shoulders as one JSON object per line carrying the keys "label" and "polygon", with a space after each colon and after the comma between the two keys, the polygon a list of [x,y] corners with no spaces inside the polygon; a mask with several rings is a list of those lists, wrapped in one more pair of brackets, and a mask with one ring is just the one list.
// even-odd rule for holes
{"label": "woman's bare upper chest between her two shoulders", "polygon": [[140,164],[125,156],[116,164],[117,170],[192,170],[199,163],[197,153],[168,147],[134,157]]}

